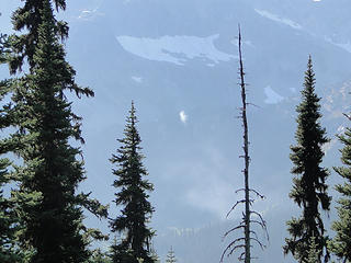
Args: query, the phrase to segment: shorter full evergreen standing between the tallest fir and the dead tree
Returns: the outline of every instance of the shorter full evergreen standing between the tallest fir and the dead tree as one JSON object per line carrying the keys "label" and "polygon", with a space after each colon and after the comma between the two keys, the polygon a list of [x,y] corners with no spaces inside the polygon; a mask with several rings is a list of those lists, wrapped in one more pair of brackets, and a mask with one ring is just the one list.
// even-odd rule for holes
{"label": "shorter full evergreen standing between the tallest fir and the dead tree", "polygon": [[144,263],[151,263],[154,258],[149,244],[154,231],[147,227],[147,222],[154,208],[148,202],[147,192],[152,191],[154,186],[144,179],[148,173],[141,162],[141,140],[136,128],[137,117],[133,102],[126,123],[125,137],[118,139],[122,146],[117,149],[117,155],[111,158],[111,162],[117,165],[113,170],[116,176],[113,186],[120,190],[115,194],[115,203],[123,206],[122,215],[111,221],[112,231],[122,235],[122,241],[114,247],[114,263],[137,263],[138,259],[144,260]]}

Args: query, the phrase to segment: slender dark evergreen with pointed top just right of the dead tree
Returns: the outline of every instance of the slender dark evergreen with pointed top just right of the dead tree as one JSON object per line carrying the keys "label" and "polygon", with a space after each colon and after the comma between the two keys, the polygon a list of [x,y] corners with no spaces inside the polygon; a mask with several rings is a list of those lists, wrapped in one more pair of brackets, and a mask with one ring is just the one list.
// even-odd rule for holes
{"label": "slender dark evergreen with pointed top just right of the dead tree", "polygon": [[325,252],[325,261],[328,261],[327,237],[320,217],[319,206],[322,210],[329,210],[331,197],[327,194],[326,179],[328,170],[320,167],[324,151],[321,146],[329,141],[326,129],[321,128],[320,99],[315,93],[315,73],[309,57],[307,71],[305,72],[302,102],[297,106],[297,130],[295,134],[296,146],[292,146],[291,160],[294,163],[292,173],[294,186],[290,197],[303,208],[299,218],[292,218],[286,222],[291,238],[285,239],[284,253],[291,252],[298,262],[308,259],[309,241],[316,239],[319,251],[318,262]]}

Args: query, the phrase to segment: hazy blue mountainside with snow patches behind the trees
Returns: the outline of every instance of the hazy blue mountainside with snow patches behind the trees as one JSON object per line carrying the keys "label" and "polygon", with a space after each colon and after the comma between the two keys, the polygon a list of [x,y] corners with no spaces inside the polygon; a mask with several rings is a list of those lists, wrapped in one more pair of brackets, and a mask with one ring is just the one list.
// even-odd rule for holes
{"label": "hazy blue mountainside with snow patches behind the trees", "polygon": [[[4,1],[10,7],[12,0]],[[236,118],[240,23],[248,100],[256,105],[249,108],[250,181],[267,196],[254,207],[264,213],[271,232],[270,245],[257,252],[257,262],[292,262],[283,258],[281,247],[285,220],[299,213],[287,197],[295,105],[310,54],[322,98],[321,123],[332,138],[325,165],[339,165],[335,135],[349,125],[342,113],[350,111],[351,101],[351,3],[86,0],[68,4],[64,15],[71,28],[68,58],[78,82],[97,94],[72,105],[83,115],[88,171],[83,187],[104,203],[113,199],[109,158],[118,147],[115,139],[122,137],[135,100],[145,164],[156,188],[155,247],[165,256],[173,245],[179,263],[218,262],[220,237],[241,215],[238,210],[234,219],[224,219],[238,198],[234,191],[242,185],[241,126]],[[328,182],[338,181],[332,172]],[[335,211],[326,222],[332,218]],[[105,222],[87,220],[106,230]]]}

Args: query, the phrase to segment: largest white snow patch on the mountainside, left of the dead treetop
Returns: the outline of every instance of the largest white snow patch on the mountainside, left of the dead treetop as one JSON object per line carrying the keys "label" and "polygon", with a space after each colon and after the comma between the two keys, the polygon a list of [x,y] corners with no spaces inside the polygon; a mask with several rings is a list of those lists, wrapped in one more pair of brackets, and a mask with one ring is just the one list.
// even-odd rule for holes
{"label": "largest white snow patch on the mountainside, left of the dead treetop", "polygon": [[117,36],[122,47],[143,58],[184,65],[189,59],[203,58],[214,64],[229,61],[236,56],[218,50],[214,41],[217,35],[197,36],[161,36],[160,38]]}

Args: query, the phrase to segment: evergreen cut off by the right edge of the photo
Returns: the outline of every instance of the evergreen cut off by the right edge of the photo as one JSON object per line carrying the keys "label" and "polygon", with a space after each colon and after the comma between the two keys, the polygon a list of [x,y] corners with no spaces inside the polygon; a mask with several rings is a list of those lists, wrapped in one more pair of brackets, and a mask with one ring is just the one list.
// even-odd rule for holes
{"label": "evergreen cut off by the right edge of the photo", "polygon": [[351,129],[347,128],[344,135],[339,136],[343,144],[341,161],[346,167],[335,168],[335,171],[342,176],[346,182],[336,186],[342,195],[338,201],[339,219],[331,226],[337,232],[336,237],[329,242],[332,251],[342,262],[351,262]]}

